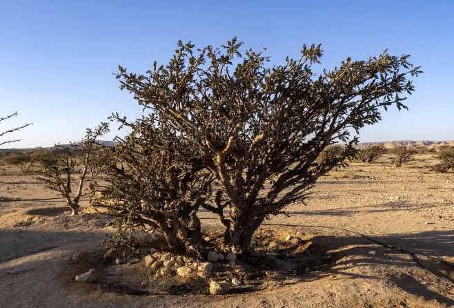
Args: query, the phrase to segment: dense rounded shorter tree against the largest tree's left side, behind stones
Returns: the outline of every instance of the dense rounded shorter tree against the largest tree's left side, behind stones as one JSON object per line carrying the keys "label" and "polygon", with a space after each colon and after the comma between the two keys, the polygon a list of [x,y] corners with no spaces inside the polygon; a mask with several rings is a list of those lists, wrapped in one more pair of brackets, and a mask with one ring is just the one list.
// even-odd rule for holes
{"label": "dense rounded shorter tree against the largest tree's left side, behind stones", "polygon": [[157,127],[153,117],[128,122],[124,139],[99,156],[101,181],[92,204],[115,215],[119,230],[143,228],[164,235],[168,247],[201,258],[203,243],[197,211],[208,202],[213,175],[189,140],[171,128]]}

